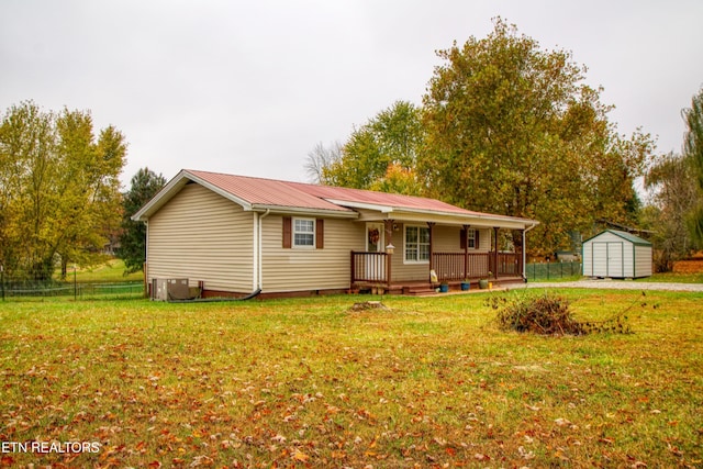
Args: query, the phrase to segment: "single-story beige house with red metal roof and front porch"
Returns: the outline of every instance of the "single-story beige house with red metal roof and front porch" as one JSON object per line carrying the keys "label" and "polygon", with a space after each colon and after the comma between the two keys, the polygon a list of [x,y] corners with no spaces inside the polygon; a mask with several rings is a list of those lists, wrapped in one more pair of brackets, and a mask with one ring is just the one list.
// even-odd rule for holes
{"label": "single-story beige house with red metal roof and front porch", "polygon": [[521,281],[524,249],[501,252],[499,231],[522,232],[525,246],[537,225],[434,199],[197,170],[132,219],[147,224],[148,284],[188,279],[205,297]]}

